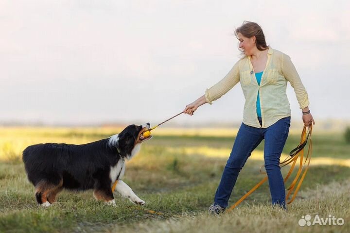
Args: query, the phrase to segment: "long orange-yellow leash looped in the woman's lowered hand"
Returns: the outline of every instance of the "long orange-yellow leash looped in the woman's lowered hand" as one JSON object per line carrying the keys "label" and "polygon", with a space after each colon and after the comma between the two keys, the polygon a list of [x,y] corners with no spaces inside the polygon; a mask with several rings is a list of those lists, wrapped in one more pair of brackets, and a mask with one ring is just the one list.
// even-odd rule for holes
{"label": "long orange-yellow leash looped in the woman's lowered hand", "polygon": [[[297,163],[297,159],[298,158],[300,159],[297,175],[294,178],[294,180],[291,183],[291,185],[286,189],[286,190],[288,190],[288,193],[287,193],[287,196],[286,196],[286,203],[287,204],[292,203],[293,200],[296,198],[297,192],[299,191],[301,183],[303,182],[303,180],[305,178],[305,175],[306,175],[306,172],[309,169],[310,160],[311,160],[311,154],[312,154],[312,140],[311,140],[312,124],[309,126],[308,131],[306,130],[306,128],[307,128],[307,126],[304,125],[303,131],[301,133],[301,139],[300,139],[299,145],[289,153],[289,156],[287,156],[284,159],[283,162],[280,163],[280,167],[287,166],[288,164],[292,163],[288,174],[284,178],[284,183],[286,183],[288,178],[290,177],[290,175],[292,174],[292,172],[294,170],[294,167],[295,167],[295,165]],[[308,148],[308,152],[307,152],[307,155],[306,155],[306,158],[305,158],[305,162],[303,163],[303,160],[304,160],[304,147],[306,146],[308,139],[310,139],[309,148]],[[260,167],[260,173],[266,174],[266,172],[262,172],[261,171],[261,168],[262,167]],[[301,174],[303,169],[304,169],[304,172],[302,173],[302,175],[300,177],[300,174]],[[299,180],[299,178],[300,178],[300,180]],[[226,212],[232,211],[237,205],[239,205],[243,200],[245,200],[252,192],[254,192],[257,188],[259,188],[260,185],[262,185],[265,181],[267,181],[267,179],[268,179],[267,176],[265,176],[265,178],[263,178],[251,190],[249,190],[240,200],[238,200],[230,208],[228,208]],[[297,183],[298,180],[299,180],[299,182]],[[294,190],[294,193],[293,193],[293,190]],[[289,196],[292,193],[293,193],[292,197],[290,198],[290,200],[288,200]]]}

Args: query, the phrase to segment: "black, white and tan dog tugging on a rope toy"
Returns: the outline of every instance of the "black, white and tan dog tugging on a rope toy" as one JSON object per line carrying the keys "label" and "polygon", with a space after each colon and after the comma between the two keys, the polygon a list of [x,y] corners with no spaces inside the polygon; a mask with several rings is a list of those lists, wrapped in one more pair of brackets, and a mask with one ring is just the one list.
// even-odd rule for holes
{"label": "black, white and tan dog tugging on a rope toy", "polygon": [[83,145],[46,143],[27,147],[23,162],[28,180],[35,186],[36,201],[48,207],[62,189],[93,189],[96,200],[115,204],[111,185],[118,180],[117,192],[144,205],[121,179],[125,159],[131,159],[139,152],[141,143],[152,138],[142,135],[149,128],[149,123],[129,125],[119,134]]}

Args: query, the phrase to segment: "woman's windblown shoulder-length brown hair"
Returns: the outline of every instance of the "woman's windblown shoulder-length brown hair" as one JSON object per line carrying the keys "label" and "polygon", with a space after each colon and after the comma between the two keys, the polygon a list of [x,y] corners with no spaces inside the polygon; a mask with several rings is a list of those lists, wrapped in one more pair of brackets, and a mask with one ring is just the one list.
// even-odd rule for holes
{"label": "woman's windblown shoulder-length brown hair", "polygon": [[[263,51],[268,49],[268,46],[266,45],[266,41],[265,41],[265,35],[263,34],[262,28],[259,26],[259,24],[254,22],[249,22],[249,21],[243,21],[241,27],[238,27],[235,30],[235,35],[237,38],[238,38],[238,33],[241,33],[247,38],[255,36],[256,37],[255,43],[258,50]],[[241,51],[244,53],[243,50]]]}

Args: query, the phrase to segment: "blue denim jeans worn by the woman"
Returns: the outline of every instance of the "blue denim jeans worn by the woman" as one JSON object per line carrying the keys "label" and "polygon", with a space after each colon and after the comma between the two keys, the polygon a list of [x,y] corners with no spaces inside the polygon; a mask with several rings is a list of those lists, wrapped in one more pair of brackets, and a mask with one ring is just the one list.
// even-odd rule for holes
{"label": "blue denim jeans worn by the woman", "polygon": [[[261,117],[258,117],[260,124]],[[227,160],[219,187],[216,190],[214,204],[227,207],[238,173],[245,165],[251,152],[265,139],[264,166],[268,176],[272,204],[285,208],[285,189],[280,172],[280,155],[287,140],[290,116],[284,117],[268,128],[255,128],[242,123],[235,139],[231,154]]]}

